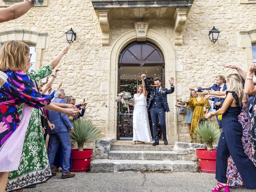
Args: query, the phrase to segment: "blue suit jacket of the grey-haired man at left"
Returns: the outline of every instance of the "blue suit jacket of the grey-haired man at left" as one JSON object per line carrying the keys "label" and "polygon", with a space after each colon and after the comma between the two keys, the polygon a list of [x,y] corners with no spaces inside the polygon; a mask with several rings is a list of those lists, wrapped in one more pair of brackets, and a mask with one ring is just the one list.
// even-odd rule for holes
{"label": "blue suit jacket of the grey-haired man at left", "polygon": [[[64,99],[60,99],[60,98],[55,98],[52,102],[66,103]],[[55,128],[53,130],[48,129],[49,135],[52,133],[66,132],[71,130],[72,128],[72,124],[66,114],[49,110],[48,119],[51,122],[51,124],[55,125]]]}

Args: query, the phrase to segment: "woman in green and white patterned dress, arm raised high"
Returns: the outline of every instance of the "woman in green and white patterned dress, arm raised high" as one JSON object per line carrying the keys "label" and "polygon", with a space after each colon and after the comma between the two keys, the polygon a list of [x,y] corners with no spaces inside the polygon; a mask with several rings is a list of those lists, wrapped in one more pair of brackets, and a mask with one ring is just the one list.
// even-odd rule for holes
{"label": "woman in green and white patterned dress, arm raised high", "polygon": [[[62,56],[68,51],[70,46],[66,46],[50,62],[40,70],[27,72],[34,84],[38,84],[42,78],[52,74],[52,69],[56,67]],[[36,81],[36,82],[35,82]],[[22,113],[22,106],[18,109]],[[30,122],[26,131],[22,156],[18,170],[10,172],[6,191],[23,191],[23,188],[46,182],[52,177],[48,156],[45,148],[40,110],[32,108]]]}

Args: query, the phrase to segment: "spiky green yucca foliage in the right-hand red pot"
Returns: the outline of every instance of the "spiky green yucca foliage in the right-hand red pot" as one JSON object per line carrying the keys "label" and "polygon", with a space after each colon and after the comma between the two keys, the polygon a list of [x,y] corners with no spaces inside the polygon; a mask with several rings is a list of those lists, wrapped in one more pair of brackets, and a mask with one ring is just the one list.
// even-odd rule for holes
{"label": "spiky green yucca foliage in the right-hand red pot", "polygon": [[200,123],[192,137],[196,142],[206,143],[207,149],[212,150],[212,143],[217,142],[220,138],[222,129],[217,124],[210,120],[206,120],[204,123]]}

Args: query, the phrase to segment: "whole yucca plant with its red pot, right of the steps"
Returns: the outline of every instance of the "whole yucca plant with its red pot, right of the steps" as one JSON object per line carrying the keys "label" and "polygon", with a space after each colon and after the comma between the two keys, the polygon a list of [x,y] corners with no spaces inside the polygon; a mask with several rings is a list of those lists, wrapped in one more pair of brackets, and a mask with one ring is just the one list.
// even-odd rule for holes
{"label": "whole yucca plant with its red pot, right of the steps", "polygon": [[212,144],[219,140],[221,132],[222,129],[220,129],[216,123],[206,120],[200,123],[192,134],[196,142],[204,142],[207,147],[207,149],[196,149],[200,170],[202,172],[216,172],[216,149],[213,149]]}

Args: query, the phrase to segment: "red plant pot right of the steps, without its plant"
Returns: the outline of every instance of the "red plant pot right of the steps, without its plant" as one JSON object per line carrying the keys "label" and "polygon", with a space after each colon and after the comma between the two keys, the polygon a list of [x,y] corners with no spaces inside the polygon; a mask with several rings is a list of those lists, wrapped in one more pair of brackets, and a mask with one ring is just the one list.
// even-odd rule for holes
{"label": "red plant pot right of the steps, without its plant", "polygon": [[216,149],[208,151],[207,149],[196,149],[199,159],[200,170],[205,173],[216,172]]}

